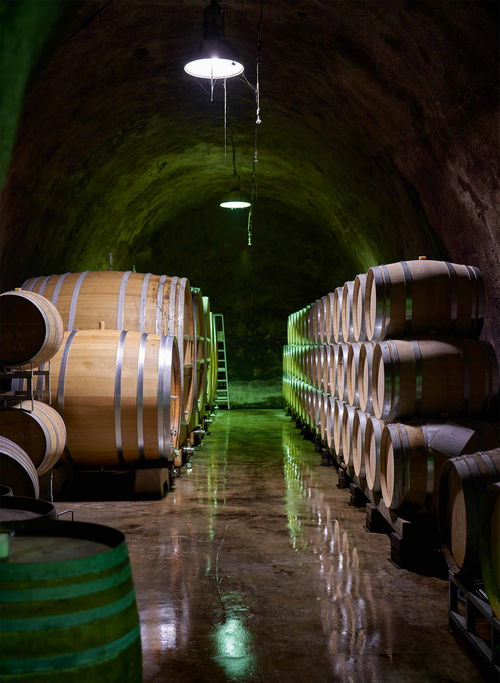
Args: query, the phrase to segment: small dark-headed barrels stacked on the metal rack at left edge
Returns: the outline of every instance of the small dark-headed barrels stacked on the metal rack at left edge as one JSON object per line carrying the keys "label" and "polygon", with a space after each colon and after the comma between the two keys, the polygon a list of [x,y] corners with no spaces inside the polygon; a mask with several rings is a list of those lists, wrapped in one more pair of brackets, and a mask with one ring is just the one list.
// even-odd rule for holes
{"label": "small dark-headed barrels stacked on the metal rack at left edge", "polygon": [[[62,340],[61,316],[50,301],[32,292],[0,295],[0,365],[6,376],[16,367],[32,380],[31,368],[47,364]],[[52,406],[34,400],[32,391],[7,391],[0,401],[0,484],[17,496],[38,498],[39,477],[58,462],[65,443],[63,419]]]}

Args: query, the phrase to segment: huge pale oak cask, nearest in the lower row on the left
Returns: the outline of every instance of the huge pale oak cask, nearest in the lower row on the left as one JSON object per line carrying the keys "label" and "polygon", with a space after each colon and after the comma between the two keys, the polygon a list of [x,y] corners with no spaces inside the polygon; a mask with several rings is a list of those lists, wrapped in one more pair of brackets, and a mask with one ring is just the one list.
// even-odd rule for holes
{"label": "huge pale oak cask, nearest in the lower row on the left", "polygon": [[52,402],[75,463],[170,459],[180,424],[175,337],[127,330],[65,333],[52,361]]}

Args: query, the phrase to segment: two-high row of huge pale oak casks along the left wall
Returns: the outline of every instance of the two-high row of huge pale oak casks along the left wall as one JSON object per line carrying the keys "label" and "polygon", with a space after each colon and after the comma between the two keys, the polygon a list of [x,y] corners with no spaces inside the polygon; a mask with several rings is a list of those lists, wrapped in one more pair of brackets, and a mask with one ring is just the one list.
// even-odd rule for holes
{"label": "two-high row of huge pale oak casks along the left wall", "polygon": [[51,401],[73,464],[175,461],[215,401],[208,298],[186,278],[131,271],[36,277],[19,294],[44,298],[62,320]]}

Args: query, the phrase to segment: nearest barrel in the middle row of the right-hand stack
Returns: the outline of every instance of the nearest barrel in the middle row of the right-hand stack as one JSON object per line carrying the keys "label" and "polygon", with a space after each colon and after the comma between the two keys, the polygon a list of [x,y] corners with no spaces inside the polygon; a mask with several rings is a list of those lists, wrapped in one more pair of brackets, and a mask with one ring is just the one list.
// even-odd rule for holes
{"label": "nearest barrel in the middle row of the right-hand stack", "polygon": [[497,359],[487,342],[425,339],[375,344],[372,396],[379,419],[480,415],[497,393]]}

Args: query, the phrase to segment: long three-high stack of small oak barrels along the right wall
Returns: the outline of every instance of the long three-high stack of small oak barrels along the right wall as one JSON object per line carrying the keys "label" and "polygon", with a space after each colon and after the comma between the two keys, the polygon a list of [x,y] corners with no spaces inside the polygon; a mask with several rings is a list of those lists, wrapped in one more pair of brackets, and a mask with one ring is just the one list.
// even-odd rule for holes
{"label": "long three-high stack of small oak barrels along the right wall", "polygon": [[436,514],[447,460],[499,443],[483,317],[479,269],[425,258],[372,267],[289,316],[292,414],[369,500],[406,519]]}

